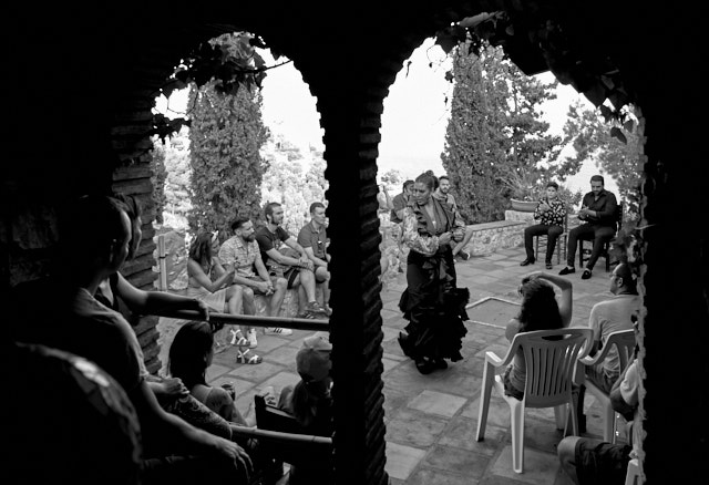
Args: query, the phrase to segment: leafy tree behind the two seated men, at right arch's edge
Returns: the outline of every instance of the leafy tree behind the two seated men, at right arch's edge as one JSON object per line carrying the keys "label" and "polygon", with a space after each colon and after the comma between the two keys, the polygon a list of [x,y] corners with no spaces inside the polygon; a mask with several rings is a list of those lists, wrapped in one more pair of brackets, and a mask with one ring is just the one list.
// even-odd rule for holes
{"label": "leafy tree behind the two seated men, at right arch's edge", "polygon": [[618,196],[625,204],[626,216],[637,220],[643,173],[637,109],[628,105],[623,114],[625,122],[620,125],[606,106],[592,111],[580,103],[573,104],[568,107],[564,135],[576,151],[569,163],[582,164],[587,158],[595,158],[597,166],[618,184]]}

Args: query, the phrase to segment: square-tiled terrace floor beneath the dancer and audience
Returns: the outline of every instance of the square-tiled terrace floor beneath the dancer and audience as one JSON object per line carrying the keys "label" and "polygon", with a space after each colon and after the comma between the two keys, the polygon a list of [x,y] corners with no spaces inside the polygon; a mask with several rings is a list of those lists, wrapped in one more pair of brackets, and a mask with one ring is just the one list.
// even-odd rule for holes
{"label": "square-tiled terrace floor beneath the dancer and audience", "polygon": [[[521,267],[523,259],[524,249],[513,248],[456,262],[459,287],[467,287],[471,292],[464,359],[429,375],[415,370],[397,341],[407,323],[397,308],[405,288],[404,275],[382,291],[386,469],[392,485],[572,484],[556,457],[556,445],[563,436],[552,410],[527,410],[523,474],[512,469],[510,412],[495,391],[485,440],[479,443],[474,437],[485,351],[504,355],[508,347],[504,324],[518,308],[520,279],[533,270],[544,270],[541,262]],[[549,272],[557,274],[562,267],[555,265]],[[567,278],[574,283],[572,324],[586,326],[590,308],[612,296],[605,261],[596,265],[588,280],[580,279],[578,268]],[[298,381],[296,352],[310,333],[296,330],[288,337],[259,336],[256,352],[264,362],[258,365],[236,364],[234,349],[222,352],[209,368],[208,380],[214,384],[233,382],[237,406],[249,415],[259,390],[271,385],[279,391]],[[602,437],[600,410],[588,393],[585,405],[588,430],[584,435]]]}

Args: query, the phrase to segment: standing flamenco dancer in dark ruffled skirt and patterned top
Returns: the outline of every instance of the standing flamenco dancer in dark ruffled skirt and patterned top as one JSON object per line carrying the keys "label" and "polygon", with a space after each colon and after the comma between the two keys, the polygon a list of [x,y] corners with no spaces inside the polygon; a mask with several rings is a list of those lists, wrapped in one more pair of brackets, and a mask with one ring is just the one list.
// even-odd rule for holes
{"label": "standing flamenco dancer in dark ruffled skirt and patterned top", "polygon": [[470,291],[455,287],[450,245],[451,239],[463,239],[465,224],[451,205],[432,197],[435,183],[430,173],[417,177],[403,217],[403,242],[411,250],[399,309],[409,323],[399,344],[422,374],[446,369],[446,359],[461,360],[467,333],[463,321]]}

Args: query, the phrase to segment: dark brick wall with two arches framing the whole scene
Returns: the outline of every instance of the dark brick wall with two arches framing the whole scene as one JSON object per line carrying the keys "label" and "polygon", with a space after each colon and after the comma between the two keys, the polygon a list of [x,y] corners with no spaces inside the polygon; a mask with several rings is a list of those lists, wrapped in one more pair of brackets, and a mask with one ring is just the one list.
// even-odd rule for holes
{"label": "dark brick wall with two arches framing the whole scene", "polygon": [[[337,214],[331,218],[332,250],[339,260],[333,265],[337,280],[332,297],[336,309],[348,309],[346,314],[336,310],[332,320],[335,372],[338,380],[348,382],[347,389],[336,395],[340,417],[336,435],[338,478],[340,483],[386,483],[378,316],[381,301],[373,283],[378,271],[373,180],[381,100],[403,60],[441,25],[506,6],[526,6],[531,13],[552,11],[569,22],[584,47],[613,56],[628,74],[643,106],[647,162],[643,206],[646,228],[640,252],[647,262],[643,285],[649,300],[644,405],[650,416],[647,431],[651,436],[645,447],[649,458],[646,472],[648,476],[662,476],[662,466],[670,463],[698,471],[696,464],[702,463],[708,433],[701,421],[707,412],[707,392],[697,383],[703,382],[701,378],[709,372],[701,358],[709,328],[709,289],[698,277],[708,266],[709,246],[706,229],[697,221],[703,220],[707,209],[702,184],[709,177],[706,164],[692,165],[703,159],[703,153],[699,152],[701,143],[697,143],[696,132],[687,126],[703,126],[706,122],[696,110],[691,90],[677,86],[666,94],[668,86],[675,86],[675,73],[667,65],[658,68],[657,60],[696,65],[702,43],[691,35],[701,29],[691,25],[692,19],[687,16],[681,21],[688,24],[680,24],[679,16],[668,18],[659,8],[640,2],[627,2],[621,8],[609,1],[523,4],[448,0],[422,7],[418,2],[364,0],[345,14],[318,10],[319,6],[309,2],[288,3],[203,6],[189,16],[144,6],[143,10],[131,10],[125,3],[103,7],[117,10],[104,10],[101,16],[88,10],[84,16],[70,16],[52,11],[52,7],[39,11],[17,7],[21,14],[9,29],[17,37],[17,45],[11,45],[17,49],[9,50],[7,61],[13,75],[3,78],[11,89],[6,92],[13,94],[7,107],[14,121],[6,145],[11,163],[2,168],[9,183],[0,180],[0,207],[6,216],[0,231],[3,283],[34,275],[45,256],[42,251],[53,242],[51,236],[37,230],[51,227],[53,220],[42,210],[51,211],[56,203],[44,195],[45,189],[65,196],[90,185],[113,184],[133,190],[143,184],[147,175],[137,172],[144,171],[141,149],[146,147],[140,144],[144,115],[152,106],[148,93],[164,75],[163,69],[155,72],[153,68],[168,68],[168,55],[178,55],[213,32],[226,31],[222,30],[226,29],[225,19],[273,39],[304,73],[318,99],[326,128],[326,176],[331,184],[328,198],[333,200]],[[641,12],[643,19],[636,12]],[[672,41],[658,32],[671,32]],[[41,63],[32,62],[37,52],[45,54]],[[342,60],[349,65],[340,65]],[[42,97],[48,72],[62,74],[49,80],[61,93],[58,109],[51,112],[60,122],[52,126],[54,133],[40,131],[43,143],[38,143],[33,113],[48,110]],[[160,79],[153,79],[151,72]],[[116,154],[123,164],[112,173]],[[22,203],[19,207],[18,199]],[[678,352],[682,353],[681,373],[666,358],[676,349],[684,350]],[[677,399],[667,390],[688,392]],[[677,425],[665,419],[678,415],[696,417],[698,424],[680,421]]]}

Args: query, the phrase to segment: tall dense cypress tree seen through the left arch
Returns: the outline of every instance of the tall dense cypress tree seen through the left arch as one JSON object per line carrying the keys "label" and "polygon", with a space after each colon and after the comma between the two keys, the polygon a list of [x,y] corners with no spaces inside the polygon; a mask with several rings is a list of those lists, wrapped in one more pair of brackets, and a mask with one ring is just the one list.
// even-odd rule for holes
{"label": "tall dense cypress tree seen through the left arch", "polygon": [[201,228],[230,233],[237,216],[260,215],[260,184],[265,161],[259,149],[268,137],[261,117],[261,97],[248,89],[222,94],[214,85],[189,94],[192,106],[191,196],[193,231]]}

